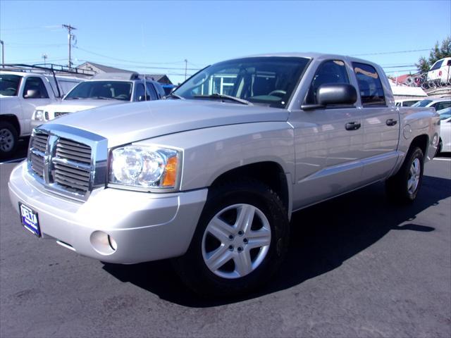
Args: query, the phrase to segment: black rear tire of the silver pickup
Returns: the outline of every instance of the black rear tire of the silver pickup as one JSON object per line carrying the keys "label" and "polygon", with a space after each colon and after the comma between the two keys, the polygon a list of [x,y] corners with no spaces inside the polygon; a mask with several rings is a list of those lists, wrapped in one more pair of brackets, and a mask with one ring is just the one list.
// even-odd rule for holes
{"label": "black rear tire of the silver pickup", "polygon": [[[416,187],[414,187],[415,184],[409,186],[409,180],[412,180],[411,168],[414,165],[414,162],[419,164],[419,177]],[[421,188],[421,182],[423,181],[423,170],[423,151],[421,151],[421,149],[417,146],[409,149],[400,170],[396,173],[396,175],[385,181],[385,188],[388,198],[398,204],[412,203],[416,199],[419,189]]]}

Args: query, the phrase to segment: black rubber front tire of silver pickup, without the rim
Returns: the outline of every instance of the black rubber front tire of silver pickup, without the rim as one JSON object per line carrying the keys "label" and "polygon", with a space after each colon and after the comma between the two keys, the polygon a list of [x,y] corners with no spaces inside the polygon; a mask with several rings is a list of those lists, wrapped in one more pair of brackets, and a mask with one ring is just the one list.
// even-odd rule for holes
{"label": "black rubber front tire of silver pickup, without the rim", "polygon": [[[218,217],[218,215],[224,215],[221,214],[224,209],[227,209],[228,207],[234,208],[240,204],[258,208],[259,211],[264,214],[271,227],[271,240],[268,239],[270,244],[268,249],[265,249],[266,256],[262,258],[261,263],[259,263],[252,272],[247,275],[243,274],[242,277],[234,278],[218,276],[217,273],[214,273],[214,271],[210,270],[206,265],[202,253],[202,247],[206,243],[204,240],[206,241],[206,237],[209,236],[209,232],[206,232],[206,228],[213,218]],[[257,215],[257,213],[255,215]],[[253,216],[254,219],[256,217],[260,218],[261,214],[255,215]],[[232,218],[230,224],[234,222],[233,217],[236,217],[235,223],[238,224],[238,211],[235,216],[230,214],[230,218]],[[252,223],[252,227],[253,226]],[[278,195],[269,189],[269,187],[254,180],[228,182],[227,184],[214,187],[209,192],[208,199],[194,232],[190,247],[184,256],[173,260],[173,265],[183,282],[201,296],[224,297],[244,294],[267,282],[279,268],[288,249],[289,229],[287,212]],[[240,236],[245,237],[246,234]],[[238,236],[236,239],[240,240]],[[230,241],[233,240],[230,239]],[[247,241],[247,239],[243,240]],[[249,239],[249,243],[250,241],[251,239]],[[239,255],[245,252],[246,249],[240,251],[240,246],[238,245],[237,248],[233,250],[230,250],[231,245],[229,246],[229,250],[232,251],[230,254]],[[245,244],[242,245],[245,247]],[[235,252],[235,250],[240,252]],[[258,249],[258,255],[262,252],[261,250],[262,248]],[[251,257],[251,249],[248,249],[247,252],[249,252],[249,257]],[[235,256],[235,258],[236,257],[238,256]],[[221,267],[233,264],[236,269],[237,265],[235,265],[235,258],[228,258],[230,261],[226,261],[228,263],[221,265]],[[217,272],[218,271],[220,271],[219,268]]]}

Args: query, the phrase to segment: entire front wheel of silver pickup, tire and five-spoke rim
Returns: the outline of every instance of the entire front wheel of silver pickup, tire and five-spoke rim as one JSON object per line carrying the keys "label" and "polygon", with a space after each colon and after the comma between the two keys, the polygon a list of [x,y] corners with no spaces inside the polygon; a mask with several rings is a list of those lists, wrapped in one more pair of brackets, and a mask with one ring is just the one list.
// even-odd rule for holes
{"label": "entire front wheel of silver pickup, tire and five-spoke rim", "polygon": [[266,282],[288,248],[288,217],[277,194],[255,181],[214,188],[175,269],[204,296],[235,296]]}

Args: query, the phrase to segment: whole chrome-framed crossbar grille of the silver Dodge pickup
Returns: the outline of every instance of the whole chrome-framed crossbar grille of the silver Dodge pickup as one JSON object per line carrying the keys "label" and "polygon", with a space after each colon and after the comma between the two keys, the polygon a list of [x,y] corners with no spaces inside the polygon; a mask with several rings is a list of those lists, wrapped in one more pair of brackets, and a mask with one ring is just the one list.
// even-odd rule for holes
{"label": "whole chrome-framed crossbar grille of the silver Dodge pickup", "polygon": [[66,125],[46,124],[30,138],[28,172],[45,189],[85,201],[106,182],[107,140]]}

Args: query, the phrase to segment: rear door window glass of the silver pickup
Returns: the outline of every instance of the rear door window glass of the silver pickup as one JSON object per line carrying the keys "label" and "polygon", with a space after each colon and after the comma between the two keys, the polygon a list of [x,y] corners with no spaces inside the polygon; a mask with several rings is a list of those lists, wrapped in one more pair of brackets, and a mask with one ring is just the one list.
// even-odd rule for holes
{"label": "rear door window glass of the silver pickup", "polygon": [[372,65],[353,62],[354,73],[359,84],[362,106],[385,106],[381,77]]}

